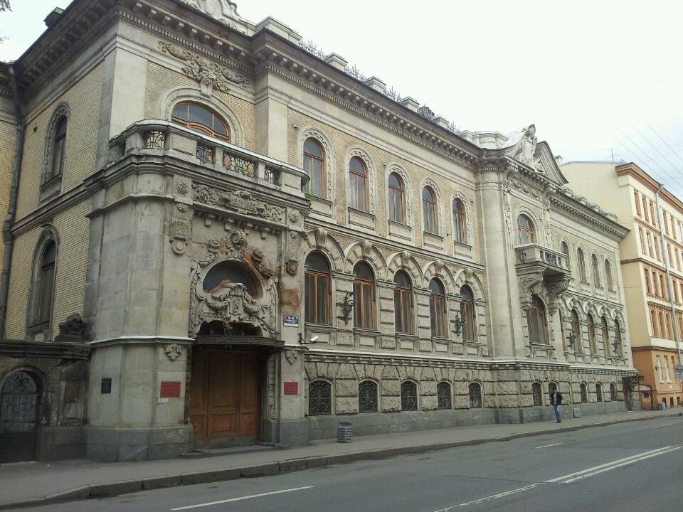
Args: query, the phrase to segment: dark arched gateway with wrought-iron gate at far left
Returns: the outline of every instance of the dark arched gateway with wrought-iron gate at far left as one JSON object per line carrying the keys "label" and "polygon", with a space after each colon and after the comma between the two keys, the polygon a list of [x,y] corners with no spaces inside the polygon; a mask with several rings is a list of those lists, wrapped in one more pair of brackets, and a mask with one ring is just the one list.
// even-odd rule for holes
{"label": "dark arched gateway with wrought-iron gate at far left", "polygon": [[0,391],[0,462],[36,458],[38,382],[26,371],[9,375]]}

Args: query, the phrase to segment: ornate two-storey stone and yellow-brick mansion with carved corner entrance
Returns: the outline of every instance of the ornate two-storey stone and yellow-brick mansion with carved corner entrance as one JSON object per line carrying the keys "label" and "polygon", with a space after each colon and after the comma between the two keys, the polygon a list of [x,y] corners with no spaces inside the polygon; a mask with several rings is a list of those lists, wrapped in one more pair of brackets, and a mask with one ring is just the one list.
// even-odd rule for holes
{"label": "ornate two-storey stone and yellow-brick mansion with carved corner entrance", "polygon": [[0,353],[38,457],[549,420],[553,386],[630,406],[628,231],[564,191],[533,125],[457,132],[228,2],[51,22],[14,64]]}

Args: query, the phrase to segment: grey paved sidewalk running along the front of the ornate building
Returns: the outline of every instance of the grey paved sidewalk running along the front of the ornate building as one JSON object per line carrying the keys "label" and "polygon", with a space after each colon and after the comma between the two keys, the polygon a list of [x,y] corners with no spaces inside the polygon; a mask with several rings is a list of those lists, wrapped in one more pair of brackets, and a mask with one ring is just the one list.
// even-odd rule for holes
{"label": "grey paved sidewalk running along the front of the ornate building", "polygon": [[0,509],[40,505],[65,499],[114,496],[145,489],[203,484],[265,476],[361,459],[506,441],[549,432],[568,432],[621,422],[682,416],[674,411],[636,411],[568,418],[561,424],[483,425],[400,434],[354,437],[350,443],[332,439],[305,447],[231,454],[205,459],[102,463],[87,460],[0,464]]}

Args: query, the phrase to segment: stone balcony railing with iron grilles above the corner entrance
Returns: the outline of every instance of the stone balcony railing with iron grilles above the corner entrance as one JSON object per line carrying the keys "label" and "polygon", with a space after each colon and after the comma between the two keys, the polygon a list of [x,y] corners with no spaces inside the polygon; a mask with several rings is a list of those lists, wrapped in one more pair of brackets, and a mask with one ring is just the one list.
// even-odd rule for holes
{"label": "stone balcony railing with iron grilles above the corner entrance", "polygon": [[113,161],[132,152],[175,156],[224,174],[287,188],[290,193],[301,194],[309,181],[298,167],[161,119],[131,124],[110,141]]}

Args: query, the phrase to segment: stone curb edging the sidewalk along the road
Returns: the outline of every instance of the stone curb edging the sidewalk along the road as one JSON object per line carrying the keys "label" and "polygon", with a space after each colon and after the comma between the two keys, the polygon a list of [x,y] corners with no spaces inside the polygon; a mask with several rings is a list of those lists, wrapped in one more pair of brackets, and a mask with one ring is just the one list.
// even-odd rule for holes
{"label": "stone curb edging the sidewalk along the road", "polygon": [[474,446],[489,442],[505,442],[521,437],[535,437],[548,434],[549,432],[573,432],[594,427],[607,427],[620,423],[630,423],[637,421],[657,420],[662,417],[683,416],[683,412],[674,412],[665,415],[657,415],[640,418],[625,418],[623,420],[613,420],[608,422],[592,423],[591,425],[573,425],[560,427],[551,430],[536,430],[534,432],[521,432],[519,434],[507,434],[501,437],[485,437],[481,439],[467,439],[465,441],[440,442],[435,444],[423,444],[418,446],[408,446],[400,448],[383,448],[376,450],[366,450],[364,452],[353,452],[341,455],[329,455],[319,457],[300,457],[282,462],[271,462],[269,464],[259,464],[258,466],[244,466],[233,469],[216,469],[213,471],[199,471],[197,473],[176,474],[170,476],[153,476],[146,479],[135,479],[125,481],[107,482],[106,484],[90,484],[77,487],[68,491],[50,494],[44,498],[34,498],[26,501],[16,501],[14,503],[4,503],[0,505],[1,510],[9,508],[22,508],[28,506],[43,506],[48,503],[59,501],[75,501],[85,498],[105,498],[118,496],[120,494],[130,494],[137,491],[150,491],[152,489],[164,489],[169,487],[208,484],[217,481],[237,480],[240,478],[254,478],[258,476],[273,476],[275,474],[290,473],[292,471],[302,471],[305,469],[321,468],[336,464],[349,464],[359,460],[389,459],[398,455],[418,454],[423,452],[434,452],[436,450],[457,448],[463,446]]}

